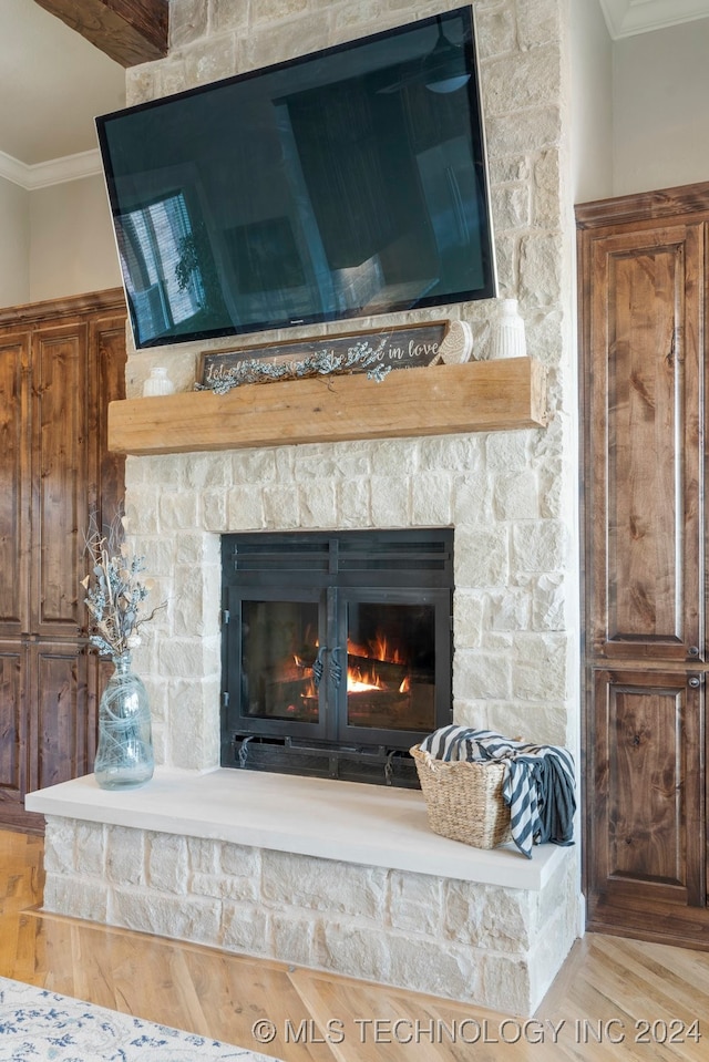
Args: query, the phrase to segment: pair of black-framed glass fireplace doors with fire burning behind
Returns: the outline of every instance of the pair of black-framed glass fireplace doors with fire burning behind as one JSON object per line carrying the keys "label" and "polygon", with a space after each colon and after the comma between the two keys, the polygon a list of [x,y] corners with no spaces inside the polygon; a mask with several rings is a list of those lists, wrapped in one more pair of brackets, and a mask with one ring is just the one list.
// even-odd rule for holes
{"label": "pair of black-framed glass fireplace doors with fire burning behind", "polygon": [[230,714],[251,734],[413,744],[450,701],[449,611],[431,589],[233,590]]}

